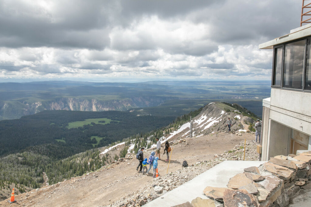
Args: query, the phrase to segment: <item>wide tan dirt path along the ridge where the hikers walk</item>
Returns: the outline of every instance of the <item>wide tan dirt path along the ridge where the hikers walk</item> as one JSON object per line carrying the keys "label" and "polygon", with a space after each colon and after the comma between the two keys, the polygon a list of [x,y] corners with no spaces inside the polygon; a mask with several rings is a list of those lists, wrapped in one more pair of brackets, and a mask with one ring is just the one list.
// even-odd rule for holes
{"label": "wide tan dirt path along the ridge where the hikers walk", "polygon": [[[244,133],[242,136],[233,133],[215,133],[197,138],[186,138],[186,142],[171,146],[173,151],[168,172],[182,168],[183,160],[187,160],[188,164],[191,165],[199,160],[213,159],[214,154],[222,154],[244,139],[253,140],[254,137],[250,133]],[[144,156],[149,157],[150,152],[151,150],[144,152]],[[161,153],[163,153],[163,149]],[[168,161],[165,161],[164,156],[161,154],[161,160],[158,164],[160,175],[165,174],[168,168]],[[152,181],[152,175],[146,176],[137,173],[137,165],[136,159],[126,160],[94,173],[72,178],[52,186],[45,186],[27,194],[16,195],[16,203],[9,204],[5,200],[0,202],[0,206],[109,205],[139,188],[144,188],[146,184]]]}

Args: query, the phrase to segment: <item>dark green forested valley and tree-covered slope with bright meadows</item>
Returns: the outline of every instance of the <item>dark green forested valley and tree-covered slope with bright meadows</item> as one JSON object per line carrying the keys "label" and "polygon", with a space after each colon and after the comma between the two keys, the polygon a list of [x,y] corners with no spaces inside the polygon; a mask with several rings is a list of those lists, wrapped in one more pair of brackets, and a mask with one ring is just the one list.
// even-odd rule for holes
{"label": "dark green forested valley and tree-covered slope with bright meadows", "polygon": [[[135,144],[132,151],[150,147],[156,137],[178,129],[201,110],[177,118],[122,111],[43,111],[0,121],[0,192],[15,187],[18,194],[40,187],[43,172],[54,184],[100,169],[124,157],[130,144]],[[85,120],[90,123],[78,126]],[[99,155],[98,147],[121,141],[126,145],[119,155]]]}

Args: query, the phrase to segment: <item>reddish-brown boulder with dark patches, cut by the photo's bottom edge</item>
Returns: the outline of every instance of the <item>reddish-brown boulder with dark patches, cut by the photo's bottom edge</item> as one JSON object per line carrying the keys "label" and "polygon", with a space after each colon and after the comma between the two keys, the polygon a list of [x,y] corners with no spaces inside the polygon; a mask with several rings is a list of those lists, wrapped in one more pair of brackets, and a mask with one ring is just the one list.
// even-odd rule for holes
{"label": "reddish-brown boulder with dark patches, cut by the photo's bottom edge", "polygon": [[224,192],[224,206],[253,206],[258,207],[259,203],[252,194],[246,190],[230,190]]}

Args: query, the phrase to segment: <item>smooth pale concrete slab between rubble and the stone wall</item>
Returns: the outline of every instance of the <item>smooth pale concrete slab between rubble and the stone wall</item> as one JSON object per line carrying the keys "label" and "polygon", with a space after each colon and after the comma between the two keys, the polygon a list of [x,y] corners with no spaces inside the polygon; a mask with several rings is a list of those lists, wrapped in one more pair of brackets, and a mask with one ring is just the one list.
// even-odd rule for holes
{"label": "smooth pale concrete slab between rubble and the stone wall", "polygon": [[179,205],[187,201],[191,203],[191,201],[196,197],[207,199],[207,197],[203,195],[205,187],[227,187],[229,179],[238,173],[243,173],[244,168],[252,166],[258,167],[263,163],[265,162],[233,160],[223,161],[174,190],[165,193],[163,196],[160,196],[155,200],[152,200],[144,206],[169,207]]}

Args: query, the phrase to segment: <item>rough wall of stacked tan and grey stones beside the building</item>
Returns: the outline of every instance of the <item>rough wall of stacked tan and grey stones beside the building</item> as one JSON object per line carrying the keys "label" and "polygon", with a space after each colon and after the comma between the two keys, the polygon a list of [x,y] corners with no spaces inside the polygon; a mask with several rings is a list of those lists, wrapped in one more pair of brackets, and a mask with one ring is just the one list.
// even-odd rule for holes
{"label": "rough wall of stacked tan and grey stones beside the building", "polygon": [[191,205],[286,206],[300,191],[311,189],[310,163],[311,151],[272,157],[259,168],[246,168],[230,178],[227,188],[207,186],[203,193],[210,199],[196,198]]}

